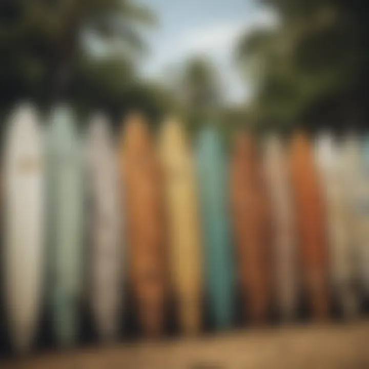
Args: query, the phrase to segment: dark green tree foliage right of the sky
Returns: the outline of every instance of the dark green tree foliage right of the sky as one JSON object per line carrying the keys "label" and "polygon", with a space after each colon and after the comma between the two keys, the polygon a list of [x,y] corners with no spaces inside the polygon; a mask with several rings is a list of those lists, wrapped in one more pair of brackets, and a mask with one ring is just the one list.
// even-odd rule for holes
{"label": "dark green tree foliage right of the sky", "polygon": [[[256,76],[251,112],[288,130],[344,126],[367,117],[369,12],[360,0],[263,0],[277,29],[246,35],[237,57]],[[366,87],[365,87],[366,86]]]}

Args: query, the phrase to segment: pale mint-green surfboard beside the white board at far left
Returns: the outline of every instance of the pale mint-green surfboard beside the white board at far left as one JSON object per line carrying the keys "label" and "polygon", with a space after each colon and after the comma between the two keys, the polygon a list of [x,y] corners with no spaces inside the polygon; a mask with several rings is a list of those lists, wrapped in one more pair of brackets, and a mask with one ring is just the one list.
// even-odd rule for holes
{"label": "pale mint-green surfboard beside the white board at far left", "polygon": [[83,160],[75,124],[71,109],[53,109],[47,173],[49,292],[53,331],[62,346],[78,339],[83,289]]}

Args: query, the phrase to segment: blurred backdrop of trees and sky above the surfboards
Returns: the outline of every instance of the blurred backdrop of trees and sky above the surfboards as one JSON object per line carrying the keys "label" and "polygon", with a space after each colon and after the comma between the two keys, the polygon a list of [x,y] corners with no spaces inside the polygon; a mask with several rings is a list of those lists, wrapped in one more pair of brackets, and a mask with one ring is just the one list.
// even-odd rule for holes
{"label": "blurred backdrop of trees and sky above the surfboards", "polygon": [[210,112],[226,132],[362,127],[368,17],[364,0],[3,0],[0,114],[63,100],[81,124],[140,108],[191,130]]}

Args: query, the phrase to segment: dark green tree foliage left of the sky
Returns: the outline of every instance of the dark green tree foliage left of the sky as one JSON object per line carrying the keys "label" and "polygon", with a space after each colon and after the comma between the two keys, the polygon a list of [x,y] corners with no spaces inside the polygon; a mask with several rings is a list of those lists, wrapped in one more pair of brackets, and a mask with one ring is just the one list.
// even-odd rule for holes
{"label": "dark green tree foliage left of the sky", "polygon": [[130,90],[136,101],[155,105],[134,61],[147,50],[140,29],[157,21],[135,0],[14,0],[1,7],[1,111],[21,99],[45,108],[67,100],[81,111],[114,114]]}

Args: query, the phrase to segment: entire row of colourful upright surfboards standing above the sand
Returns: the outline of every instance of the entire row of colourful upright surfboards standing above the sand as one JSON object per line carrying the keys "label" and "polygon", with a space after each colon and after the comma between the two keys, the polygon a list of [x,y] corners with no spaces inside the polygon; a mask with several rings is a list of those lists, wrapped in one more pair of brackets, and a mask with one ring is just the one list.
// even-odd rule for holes
{"label": "entire row of colourful upright surfboards standing above the sand", "polygon": [[255,324],[272,303],[293,319],[301,294],[317,319],[332,297],[354,316],[369,292],[369,145],[355,137],[313,144],[297,132],[258,146],[238,132],[227,155],[210,124],[192,150],[175,119],[156,145],[131,115],[116,147],[101,115],[78,139],[66,107],[54,109],[46,133],[30,106],[8,123],[1,261],[19,351],[32,344],[45,298],[58,342],[75,341],[86,262],[104,340],[117,333],[126,281],[147,336],[162,333],[170,291],[188,334],[200,330],[203,296],[217,329],[232,325],[236,285]]}

